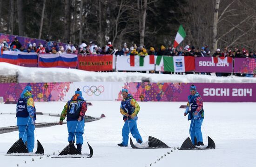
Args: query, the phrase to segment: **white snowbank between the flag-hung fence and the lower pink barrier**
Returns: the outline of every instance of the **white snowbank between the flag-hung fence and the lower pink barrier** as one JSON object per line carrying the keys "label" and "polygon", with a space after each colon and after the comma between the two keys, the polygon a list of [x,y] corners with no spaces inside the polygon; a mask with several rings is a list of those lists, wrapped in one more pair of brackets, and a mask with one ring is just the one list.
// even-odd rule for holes
{"label": "white snowbank between the flag-hung fence and the lower pink barrier", "polygon": [[256,83],[256,78],[207,75],[144,74],[138,72],[92,72],[65,68],[32,68],[0,63],[0,75],[18,75],[20,83],[39,82],[181,82],[181,83]]}

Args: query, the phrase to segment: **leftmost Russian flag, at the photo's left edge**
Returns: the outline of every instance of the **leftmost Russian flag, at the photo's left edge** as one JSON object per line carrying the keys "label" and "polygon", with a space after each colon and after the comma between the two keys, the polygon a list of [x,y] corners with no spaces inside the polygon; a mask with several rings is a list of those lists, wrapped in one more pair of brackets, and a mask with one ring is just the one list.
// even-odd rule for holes
{"label": "leftmost Russian flag, at the photo's left edge", "polygon": [[20,51],[3,51],[3,53],[0,54],[0,62],[17,65],[19,52]]}

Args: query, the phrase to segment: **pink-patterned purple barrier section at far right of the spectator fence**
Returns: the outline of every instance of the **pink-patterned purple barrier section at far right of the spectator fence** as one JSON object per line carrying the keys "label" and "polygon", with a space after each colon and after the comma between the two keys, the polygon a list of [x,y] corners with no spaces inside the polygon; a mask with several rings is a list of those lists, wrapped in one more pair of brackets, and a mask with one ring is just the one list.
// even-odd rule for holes
{"label": "pink-patterned purple barrier section at far right of the spectator fence", "polygon": [[256,74],[256,58],[235,58],[234,72]]}

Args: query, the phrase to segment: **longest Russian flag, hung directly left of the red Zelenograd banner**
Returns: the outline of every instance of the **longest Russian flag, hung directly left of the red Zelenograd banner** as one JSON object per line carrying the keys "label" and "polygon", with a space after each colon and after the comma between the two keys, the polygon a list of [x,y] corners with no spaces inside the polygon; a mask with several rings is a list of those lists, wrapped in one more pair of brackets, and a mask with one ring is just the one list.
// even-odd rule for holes
{"label": "longest Russian flag, hung directly left of the red Zelenograd banner", "polygon": [[76,68],[77,55],[68,53],[39,54],[38,67]]}

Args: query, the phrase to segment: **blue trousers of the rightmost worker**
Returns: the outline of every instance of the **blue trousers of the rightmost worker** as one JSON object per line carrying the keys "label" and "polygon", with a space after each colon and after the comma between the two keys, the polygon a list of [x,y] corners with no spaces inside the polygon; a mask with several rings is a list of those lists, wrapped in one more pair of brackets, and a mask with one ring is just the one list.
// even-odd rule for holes
{"label": "blue trousers of the rightmost worker", "polygon": [[196,144],[194,140],[195,137],[197,142],[199,141],[202,142],[202,131],[201,131],[202,121],[203,121],[203,118],[194,119],[194,116],[192,117],[189,132],[190,132],[191,141],[194,145]]}

